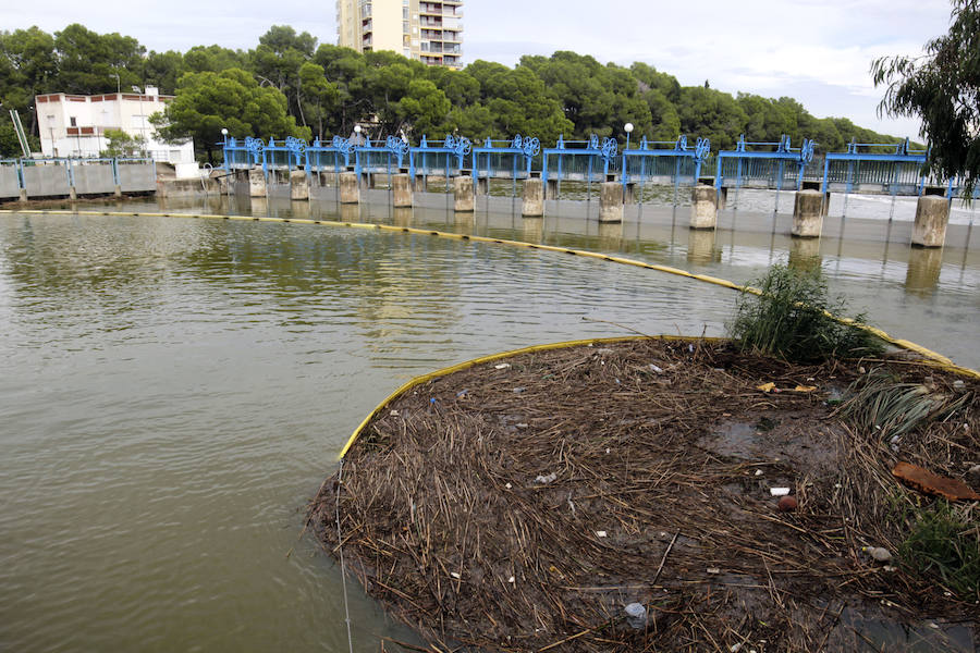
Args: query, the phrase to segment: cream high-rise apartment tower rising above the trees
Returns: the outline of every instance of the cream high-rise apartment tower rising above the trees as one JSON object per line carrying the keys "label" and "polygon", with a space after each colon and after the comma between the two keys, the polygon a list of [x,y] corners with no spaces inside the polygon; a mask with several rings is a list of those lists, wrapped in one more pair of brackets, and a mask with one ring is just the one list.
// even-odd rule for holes
{"label": "cream high-rise apartment tower rising above the trees", "polygon": [[429,65],[462,66],[463,0],[336,0],[336,41],[391,50]]}

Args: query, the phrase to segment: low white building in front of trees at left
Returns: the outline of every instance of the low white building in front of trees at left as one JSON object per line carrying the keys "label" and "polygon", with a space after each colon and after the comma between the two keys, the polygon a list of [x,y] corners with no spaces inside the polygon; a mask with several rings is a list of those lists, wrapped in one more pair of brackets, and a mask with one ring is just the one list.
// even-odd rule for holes
{"label": "low white building in front of trees at left", "polygon": [[194,163],[193,141],[160,143],[149,122],[149,116],[163,111],[171,100],[173,96],[161,96],[154,86],[147,86],[144,94],[35,96],[41,152],[46,157],[98,157],[109,145],[106,132],[121,130],[144,137],[147,155],[156,161]]}

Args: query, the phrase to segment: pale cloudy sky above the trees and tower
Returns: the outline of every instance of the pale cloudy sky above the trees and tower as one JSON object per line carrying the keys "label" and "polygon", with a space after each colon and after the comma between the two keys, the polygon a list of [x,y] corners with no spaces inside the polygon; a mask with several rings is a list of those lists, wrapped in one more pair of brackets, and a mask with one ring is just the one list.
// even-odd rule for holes
{"label": "pale cloudy sky above the trees and tower", "polygon": [[[48,0],[3,2],[0,28],[57,32],[77,22],[119,32],[147,49],[217,44],[250,49],[271,25],[336,42],[334,2],[294,0]],[[600,62],[642,61],[732,94],[788,96],[818,118],[915,138],[918,121],[879,119],[871,61],[918,56],[950,25],[948,0],[466,0],[464,63],[517,63],[522,54],[573,50]]]}

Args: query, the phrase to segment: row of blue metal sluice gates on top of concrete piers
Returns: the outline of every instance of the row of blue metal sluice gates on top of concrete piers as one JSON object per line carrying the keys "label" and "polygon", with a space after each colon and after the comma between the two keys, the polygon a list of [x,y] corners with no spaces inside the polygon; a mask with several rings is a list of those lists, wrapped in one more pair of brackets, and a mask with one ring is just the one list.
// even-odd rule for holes
{"label": "row of blue metal sluice gates on top of concrete piers", "polygon": [[[654,141],[642,137],[636,149],[620,151],[614,138],[565,140],[560,136],[555,147],[542,148],[538,138],[517,135],[510,140],[486,139],[476,147],[468,138],[446,135],[443,140],[422,136],[418,146],[404,137],[389,136],[370,140],[359,134],[350,138],[333,136],[329,141],[311,145],[298,138],[284,140],[225,138],[223,144],[226,173],[261,168],[266,175],[279,171],[304,170],[338,174],[353,168],[358,174],[394,174],[407,169],[413,177],[442,176],[446,180],[470,169],[478,181],[511,180],[516,183],[540,170],[546,188],[561,193],[562,182],[604,182],[618,175],[624,186],[647,184],[695,185],[701,178],[711,155],[707,138],[688,144],[686,136],[676,141]],[[908,139],[898,144],[852,143],[846,152],[828,152],[822,177],[813,163],[816,144],[804,139],[792,147],[789,137],[777,143],[747,141],[739,137],[733,150],[716,153],[714,185],[716,188],[799,189],[804,180],[819,182],[823,192],[880,193],[921,195],[927,183],[946,186],[948,198],[960,196],[958,180],[930,181],[922,170],[928,150],[910,149]],[[467,162],[469,165],[467,165]],[[980,197],[980,188],[975,189]]]}

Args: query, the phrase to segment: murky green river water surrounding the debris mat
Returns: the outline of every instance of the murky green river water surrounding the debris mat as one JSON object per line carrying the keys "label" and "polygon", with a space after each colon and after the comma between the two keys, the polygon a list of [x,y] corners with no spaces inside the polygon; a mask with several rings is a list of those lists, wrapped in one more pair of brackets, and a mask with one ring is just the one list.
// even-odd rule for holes
{"label": "murky green river water surrounding the debris mat", "polygon": [[[758,214],[703,234],[667,209],[600,229],[572,206],[525,221],[434,204],[315,213],[622,251],[738,282],[788,256],[821,264],[886,331],[980,366],[980,256],[910,250],[901,224],[848,223],[814,248]],[[308,211],[167,207],[196,209]],[[297,535],[307,498],[380,399],[482,354],[625,333],[599,320],[720,334],[734,298],[428,236],[0,215],[0,650],[346,650],[339,570]],[[356,651],[411,638],[348,589]]]}

